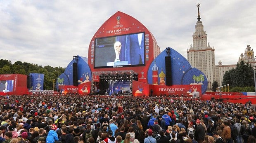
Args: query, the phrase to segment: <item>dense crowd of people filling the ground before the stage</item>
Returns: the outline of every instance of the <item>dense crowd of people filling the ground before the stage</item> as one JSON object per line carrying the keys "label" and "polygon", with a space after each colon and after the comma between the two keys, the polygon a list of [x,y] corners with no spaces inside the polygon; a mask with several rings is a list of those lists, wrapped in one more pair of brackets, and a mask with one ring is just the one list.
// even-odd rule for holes
{"label": "dense crowd of people filling the ground before the stage", "polygon": [[248,101],[0,96],[0,143],[256,143]]}

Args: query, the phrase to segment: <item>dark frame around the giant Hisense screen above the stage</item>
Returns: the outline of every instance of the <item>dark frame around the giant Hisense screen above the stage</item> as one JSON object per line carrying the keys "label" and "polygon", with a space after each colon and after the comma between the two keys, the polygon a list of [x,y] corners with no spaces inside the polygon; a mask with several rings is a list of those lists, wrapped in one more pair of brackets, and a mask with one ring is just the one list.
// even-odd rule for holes
{"label": "dark frame around the giant Hisense screen above the stage", "polygon": [[[144,58],[144,63],[142,64],[133,64],[133,65],[122,65],[122,66],[95,66],[96,65],[96,58],[100,58],[100,57],[96,57],[96,52],[97,52],[97,40],[99,39],[104,39],[104,38],[113,38],[113,37],[119,37],[119,36],[124,36],[124,35],[135,35],[135,34],[140,34],[142,33],[143,34],[143,42],[144,42],[144,45],[143,45],[143,58]],[[113,35],[113,36],[107,36],[107,37],[101,37],[101,38],[94,38],[94,56],[91,57],[93,58],[94,60],[94,63],[93,63],[93,68],[126,68],[126,67],[140,67],[140,66],[145,66],[146,65],[146,38],[145,38],[145,31],[144,32],[137,32],[137,33],[128,33],[128,34],[123,34],[123,35]],[[107,62],[106,62],[107,64]]]}

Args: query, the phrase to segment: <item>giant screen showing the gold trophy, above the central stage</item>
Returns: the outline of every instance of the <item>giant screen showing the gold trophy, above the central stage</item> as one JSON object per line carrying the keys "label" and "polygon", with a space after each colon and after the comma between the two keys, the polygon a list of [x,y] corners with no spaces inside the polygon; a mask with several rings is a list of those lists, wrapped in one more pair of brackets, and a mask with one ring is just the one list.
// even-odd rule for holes
{"label": "giant screen showing the gold trophy, above the central stage", "polygon": [[94,52],[94,68],[145,66],[145,33],[95,38]]}

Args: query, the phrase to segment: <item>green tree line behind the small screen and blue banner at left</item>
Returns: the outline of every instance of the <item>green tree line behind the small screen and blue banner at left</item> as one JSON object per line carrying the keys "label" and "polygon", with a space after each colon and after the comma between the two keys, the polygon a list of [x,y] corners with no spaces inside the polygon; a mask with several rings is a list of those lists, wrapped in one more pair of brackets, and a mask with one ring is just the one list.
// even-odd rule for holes
{"label": "green tree line behind the small screen and blue banner at left", "polygon": [[[0,74],[22,74],[29,75],[29,73],[44,74],[44,89],[52,90],[53,80],[57,80],[60,74],[64,73],[65,68],[52,66],[38,66],[38,64],[16,61],[12,64],[11,61],[0,59]],[[56,90],[56,86],[55,86]]]}

